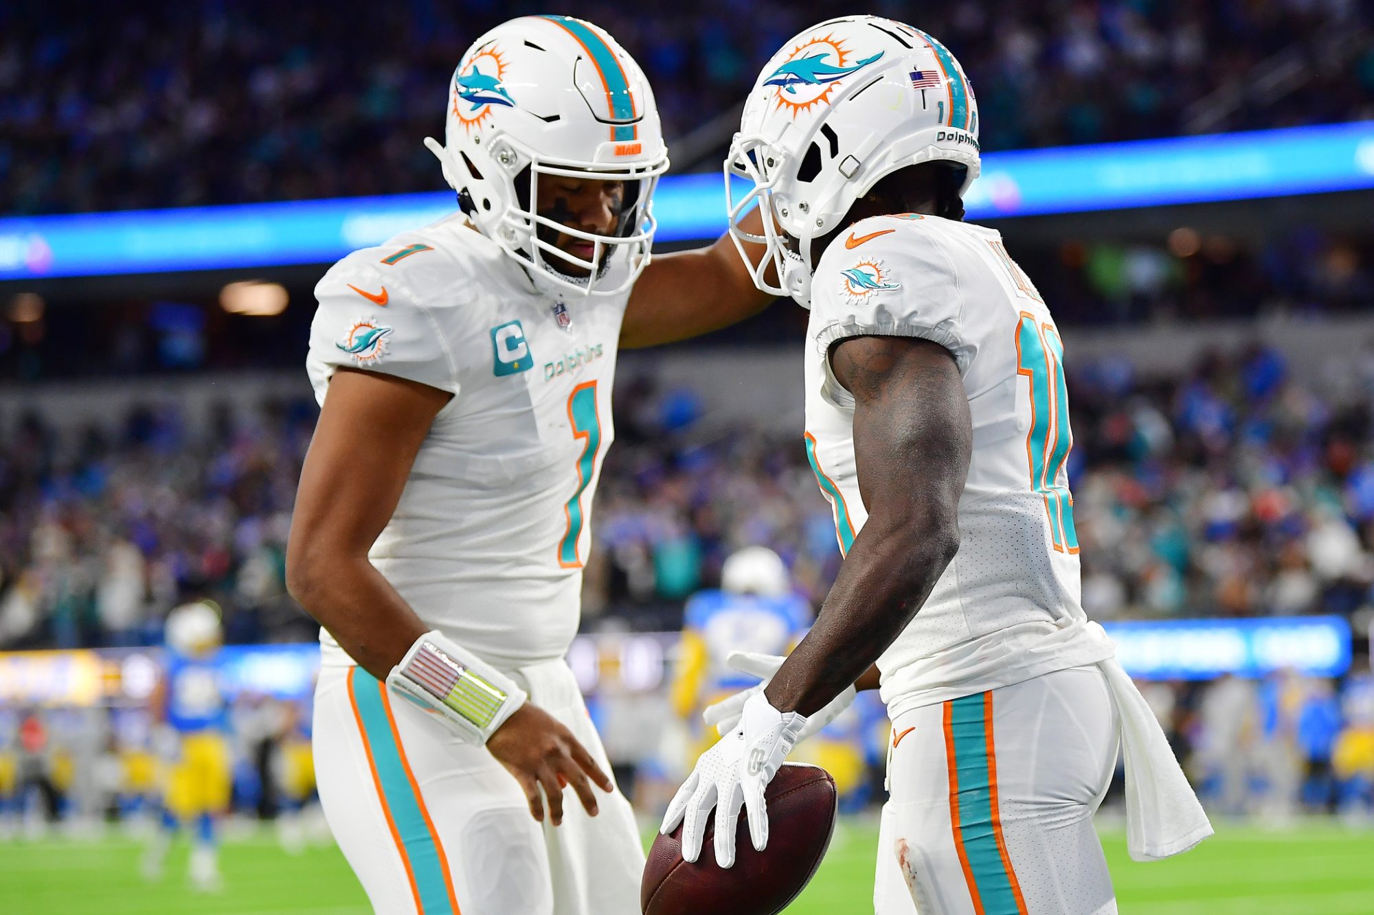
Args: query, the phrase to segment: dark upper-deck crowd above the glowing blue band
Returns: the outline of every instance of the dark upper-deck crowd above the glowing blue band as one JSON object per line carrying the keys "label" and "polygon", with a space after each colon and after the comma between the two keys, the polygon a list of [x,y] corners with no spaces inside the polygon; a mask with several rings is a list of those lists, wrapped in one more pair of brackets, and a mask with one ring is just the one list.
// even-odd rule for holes
{"label": "dark upper-deck crowd above the glowing blue band", "polygon": [[[85,8],[85,10],[82,10]],[[0,7],[0,212],[60,213],[437,190],[420,137],[467,44],[517,0]],[[948,44],[977,87],[985,150],[1374,115],[1369,5],[1355,0],[991,0],[871,12]],[[769,54],[848,4],[594,0],[646,69],[669,148],[732,117]],[[155,27],[153,23],[157,23]],[[679,146],[713,169],[721,137]],[[328,157],[330,168],[319,168]],[[714,157],[714,158],[713,158]],[[80,168],[71,168],[78,162]]]}

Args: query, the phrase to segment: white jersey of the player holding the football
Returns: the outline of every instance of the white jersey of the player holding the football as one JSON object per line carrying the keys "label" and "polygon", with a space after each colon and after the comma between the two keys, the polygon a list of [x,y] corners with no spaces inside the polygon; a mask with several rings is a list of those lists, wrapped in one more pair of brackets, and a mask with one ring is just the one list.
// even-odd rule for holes
{"label": "white jersey of the player holding the football", "polygon": [[878,659],[890,713],[1110,657],[1110,640],[1087,626],[1080,603],[1063,343],[1002,236],[918,214],[852,225],[816,268],[807,335],[807,456],[844,551],[868,512],[855,470],[853,397],[831,374],[831,345],[930,339],[954,353],[969,394],[973,459],[959,551]]}

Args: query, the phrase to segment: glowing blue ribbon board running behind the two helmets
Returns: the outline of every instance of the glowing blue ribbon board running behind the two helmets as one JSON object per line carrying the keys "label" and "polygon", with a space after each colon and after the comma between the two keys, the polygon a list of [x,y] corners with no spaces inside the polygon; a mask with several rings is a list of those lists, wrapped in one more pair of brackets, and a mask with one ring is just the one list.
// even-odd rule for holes
{"label": "glowing blue ribbon board running behind the two helmets", "polygon": [[[988,152],[969,218],[1374,188],[1374,121]],[[328,264],[449,216],[451,192],[0,218],[0,280]],[[724,232],[720,173],[669,174],[660,242]]]}

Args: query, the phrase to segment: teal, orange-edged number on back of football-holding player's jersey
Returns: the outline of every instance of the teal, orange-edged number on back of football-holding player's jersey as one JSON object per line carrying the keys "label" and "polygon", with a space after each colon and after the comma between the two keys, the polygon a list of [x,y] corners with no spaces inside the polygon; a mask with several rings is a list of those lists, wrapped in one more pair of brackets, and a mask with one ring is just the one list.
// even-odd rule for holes
{"label": "teal, orange-edged number on back of football-holding player's jersey", "polygon": [[1030,433],[1026,436],[1030,489],[1044,496],[1055,552],[1077,552],[1073,496],[1068,477],[1059,482],[1063,462],[1073,448],[1069,392],[1063,386],[1063,341],[1054,324],[1037,321],[1029,312],[1021,312],[1017,324],[1017,374],[1030,379]]}

